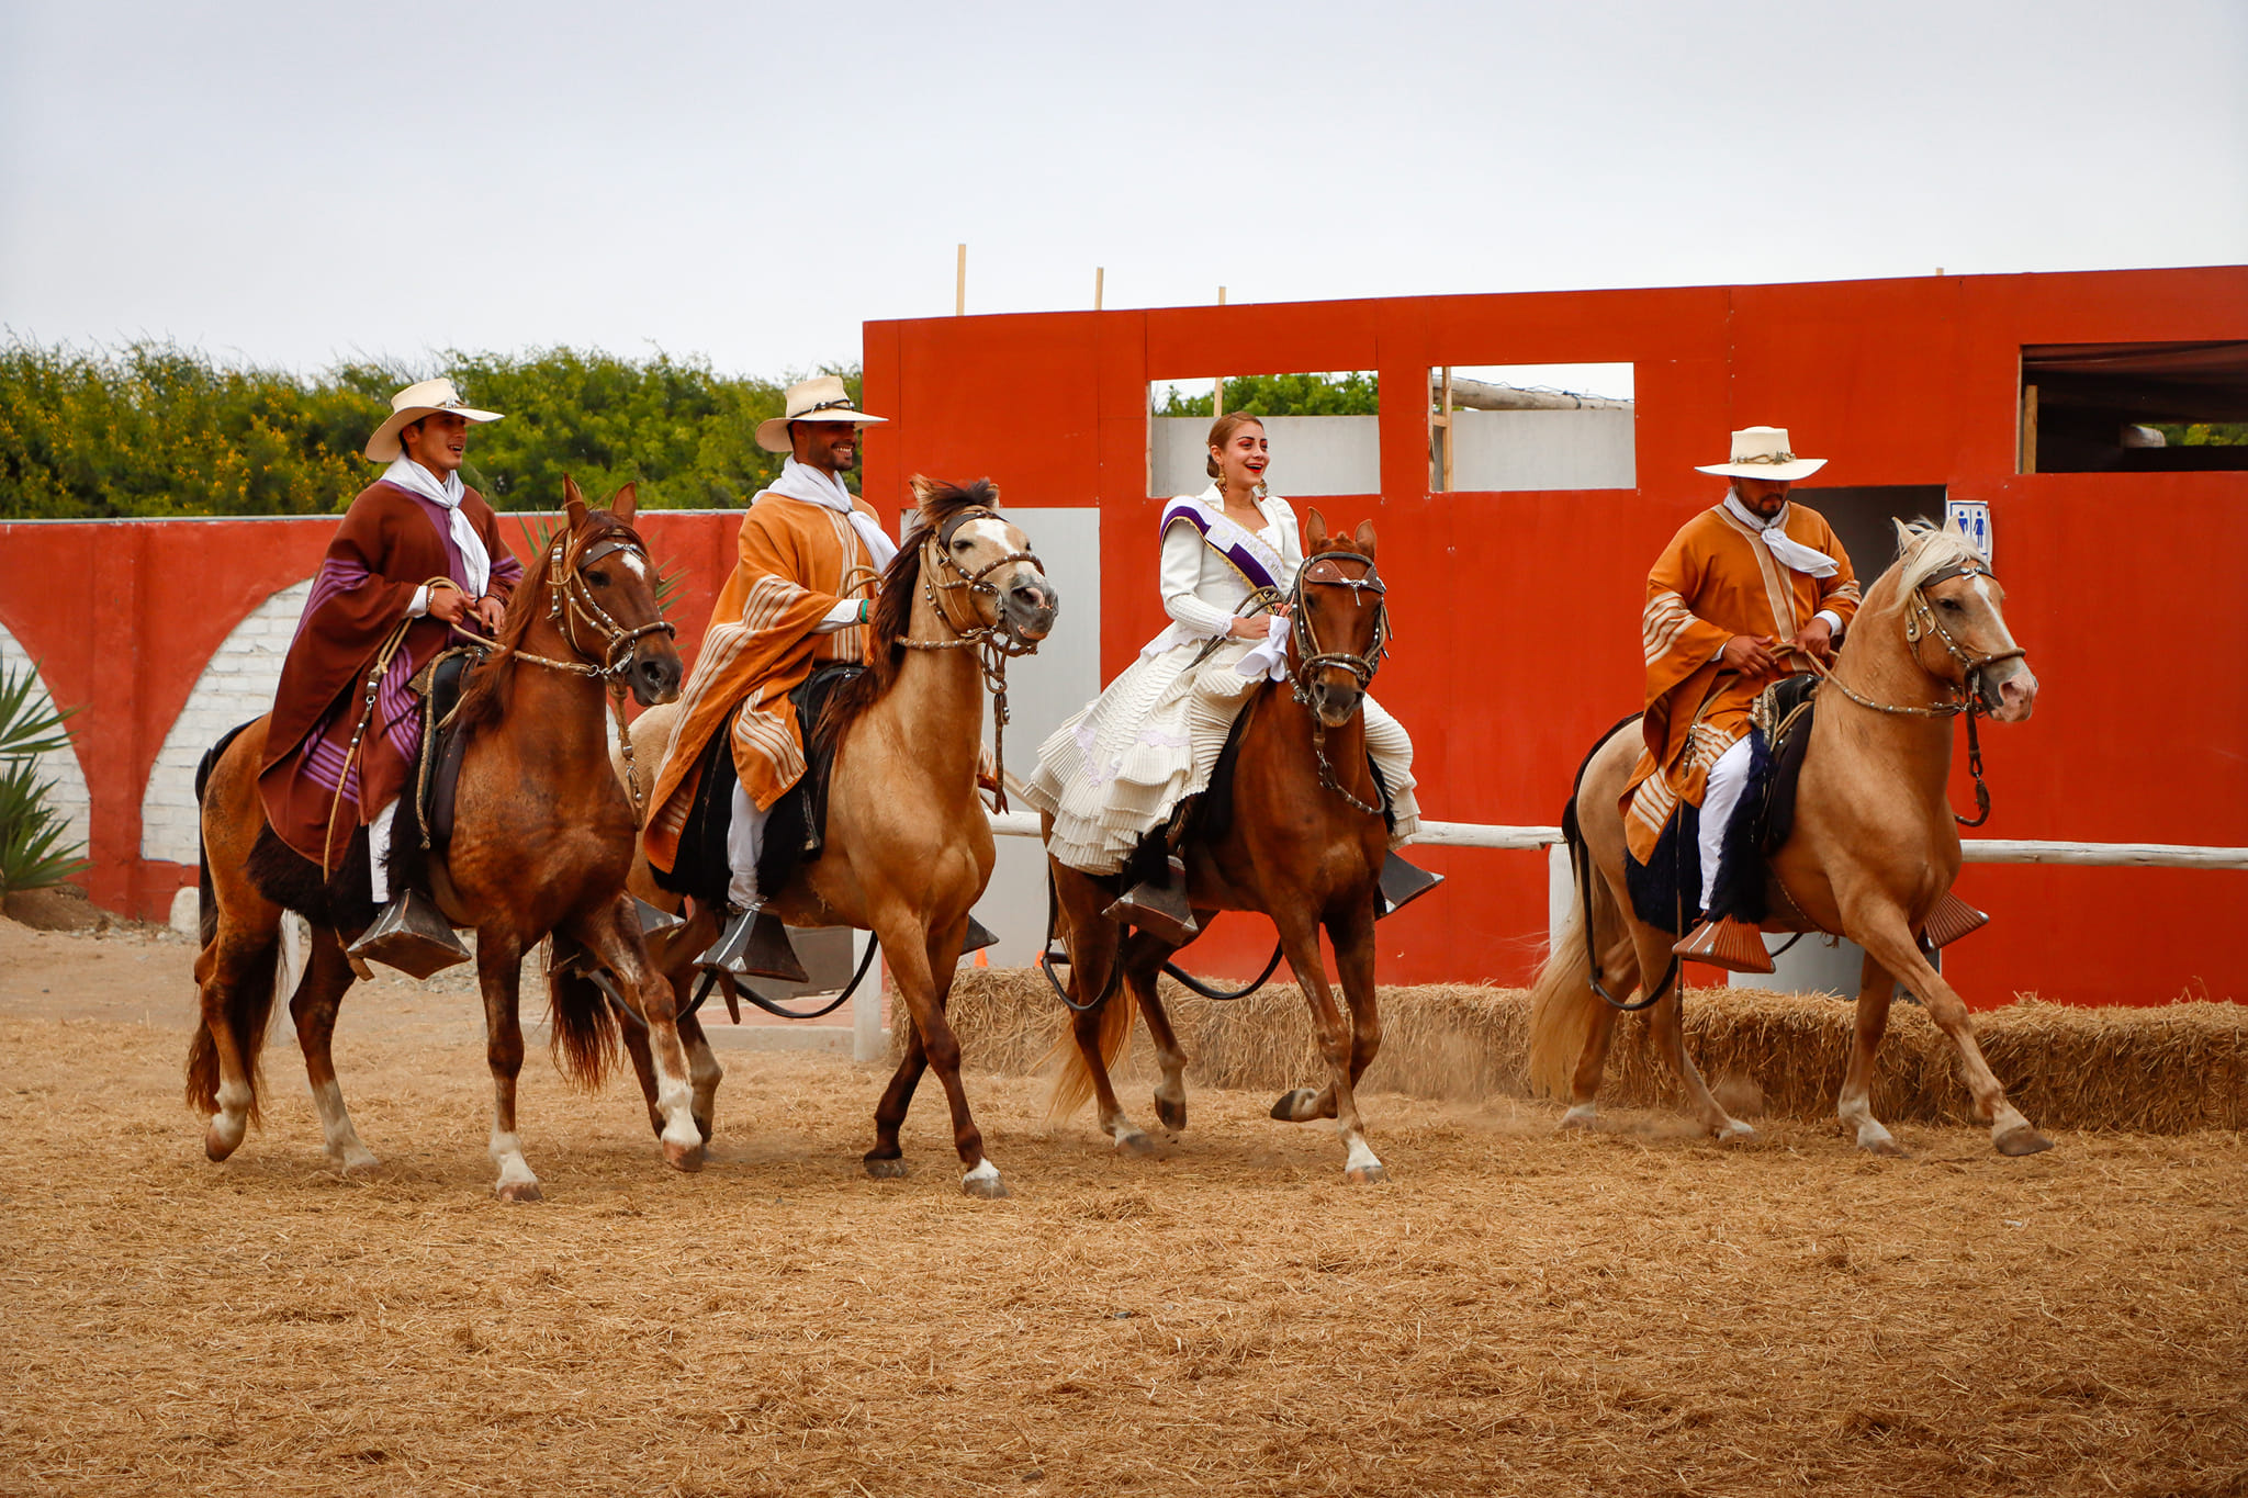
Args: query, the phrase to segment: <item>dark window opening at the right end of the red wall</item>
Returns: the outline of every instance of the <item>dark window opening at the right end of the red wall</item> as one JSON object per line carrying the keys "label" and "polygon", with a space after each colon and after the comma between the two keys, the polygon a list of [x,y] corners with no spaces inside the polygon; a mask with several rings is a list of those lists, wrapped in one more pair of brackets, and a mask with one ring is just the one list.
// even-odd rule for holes
{"label": "dark window opening at the right end of the red wall", "polygon": [[2248,469],[2248,339],[2023,346],[2023,474],[2208,469]]}

